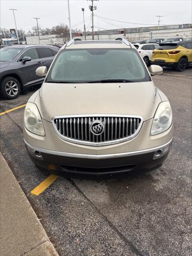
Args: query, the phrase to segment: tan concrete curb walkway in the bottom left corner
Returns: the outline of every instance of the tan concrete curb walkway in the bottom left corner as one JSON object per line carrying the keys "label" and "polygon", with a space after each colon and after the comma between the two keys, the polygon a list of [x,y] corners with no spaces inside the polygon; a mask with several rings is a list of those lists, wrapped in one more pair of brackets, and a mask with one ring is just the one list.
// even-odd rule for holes
{"label": "tan concrete curb walkway in the bottom left corner", "polygon": [[59,256],[0,153],[1,256]]}

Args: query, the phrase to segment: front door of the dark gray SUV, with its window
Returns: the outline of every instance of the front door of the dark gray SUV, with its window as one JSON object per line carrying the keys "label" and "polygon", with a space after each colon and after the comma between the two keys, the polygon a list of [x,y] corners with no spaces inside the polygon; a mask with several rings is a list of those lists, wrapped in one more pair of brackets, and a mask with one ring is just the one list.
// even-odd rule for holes
{"label": "front door of the dark gray SUV, with its window", "polygon": [[[29,57],[31,60],[22,62],[23,58]],[[35,71],[42,65],[36,47],[24,51],[17,60],[19,71],[22,75],[23,86],[30,86],[41,83],[44,78],[36,75]]]}

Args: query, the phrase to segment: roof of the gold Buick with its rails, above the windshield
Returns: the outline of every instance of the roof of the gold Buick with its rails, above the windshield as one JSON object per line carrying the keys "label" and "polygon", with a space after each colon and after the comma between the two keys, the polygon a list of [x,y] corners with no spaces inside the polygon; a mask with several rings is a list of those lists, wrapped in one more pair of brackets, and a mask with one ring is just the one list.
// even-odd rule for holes
{"label": "roof of the gold Buick with its rails, above the windshield", "polygon": [[94,48],[134,48],[133,44],[127,41],[125,38],[118,38],[114,40],[75,40],[72,39],[67,44],[61,47],[63,49],[94,49]]}

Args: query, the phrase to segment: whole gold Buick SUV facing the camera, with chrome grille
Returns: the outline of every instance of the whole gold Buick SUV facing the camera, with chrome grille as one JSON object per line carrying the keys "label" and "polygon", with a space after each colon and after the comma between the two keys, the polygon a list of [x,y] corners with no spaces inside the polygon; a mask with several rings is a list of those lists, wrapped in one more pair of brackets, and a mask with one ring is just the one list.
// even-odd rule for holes
{"label": "whole gold Buick SUV facing the camera, with chrome grille", "polygon": [[150,171],[165,161],[173,138],[172,110],[126,39],[73,39],[56,55],[28,100],[23,134],[39,169],[66,177],[116,177]]}

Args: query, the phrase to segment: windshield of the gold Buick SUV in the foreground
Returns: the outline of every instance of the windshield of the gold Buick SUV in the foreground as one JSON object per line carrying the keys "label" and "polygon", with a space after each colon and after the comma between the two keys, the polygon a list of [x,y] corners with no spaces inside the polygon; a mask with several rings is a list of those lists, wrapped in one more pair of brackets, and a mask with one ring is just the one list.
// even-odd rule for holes
{"label": "windshield of the gold Buick SUV in the foreground", "polygon": [[63,50],[45,82],[146,82],[150,76],[135,49]]}

